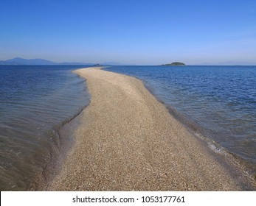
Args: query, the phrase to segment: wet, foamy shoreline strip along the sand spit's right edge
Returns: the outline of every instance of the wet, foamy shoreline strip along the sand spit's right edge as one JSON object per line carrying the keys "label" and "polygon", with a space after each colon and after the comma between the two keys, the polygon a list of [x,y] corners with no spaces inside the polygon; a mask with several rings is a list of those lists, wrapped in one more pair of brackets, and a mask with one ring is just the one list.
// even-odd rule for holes
{"label": "wet, foamy shoreline strip along the sand spit's right edge", "polygon": [[[125,74],[126,75],[126,74]],[[133,77],[133,76],[131,76]],[[134,78],[136,78],[134,76]],[[136,78],[138,79],[138,78]],[[141,79],[139,79],[142,81]],[[228,149],[221,146],[221,144],[215,142],[211,134],[206,132],[203,127],[199,126],[191,118],[186,116],[184,113],[180,113],[176,110],[175,107],[170,104],[166,104],[156,96],[153,88],[150,85],[146,85],[147,82],[142,81],[145,85],[145,88],[155,96],[156,100],[161,104],[164,104],[170,113],[170,116],[173,116],[180,124],[182,124],[189,132],[192,132],[196,138],[202,141],[204,146],[209,149],[209,152],[212,153],[213,157],[218,160],[233,177],[239,177],[241,180],[241,185],[248,191],[256,191],[256,167],[252,163],[248,163],[243,158],[239,157],[237,154],[230,152]]]}

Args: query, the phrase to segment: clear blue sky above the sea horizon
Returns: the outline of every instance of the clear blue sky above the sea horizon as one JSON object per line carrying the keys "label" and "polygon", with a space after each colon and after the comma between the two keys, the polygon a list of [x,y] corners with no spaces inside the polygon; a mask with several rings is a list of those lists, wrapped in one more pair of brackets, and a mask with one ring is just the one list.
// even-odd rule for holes
{"label": "clear blue sky above the sea horizon", "polygon": [[0,10],[0,60],[256,65],[255,0],[1,0]]}

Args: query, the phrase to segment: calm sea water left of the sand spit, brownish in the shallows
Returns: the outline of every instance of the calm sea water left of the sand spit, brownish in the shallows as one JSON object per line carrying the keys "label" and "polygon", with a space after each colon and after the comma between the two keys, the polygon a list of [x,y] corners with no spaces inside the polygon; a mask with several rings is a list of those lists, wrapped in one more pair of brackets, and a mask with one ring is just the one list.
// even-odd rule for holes
{"label": "calm sea water left of the sand spit, brownish in the shallows", "polygon": [[89,104],[76,68],[0,65],[1,191],[29,189],[59,149],[58,129]]}

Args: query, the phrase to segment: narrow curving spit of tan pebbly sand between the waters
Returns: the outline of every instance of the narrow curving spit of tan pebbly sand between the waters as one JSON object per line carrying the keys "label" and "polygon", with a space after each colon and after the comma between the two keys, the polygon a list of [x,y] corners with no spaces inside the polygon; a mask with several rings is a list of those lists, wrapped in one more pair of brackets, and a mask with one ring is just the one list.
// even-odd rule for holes
{"label": "narrow curving spit of tan pebbly sand between the waters", "polygon": [[82,68],[91,104],[52,191],[239,191],[163,104],[133,77]]}

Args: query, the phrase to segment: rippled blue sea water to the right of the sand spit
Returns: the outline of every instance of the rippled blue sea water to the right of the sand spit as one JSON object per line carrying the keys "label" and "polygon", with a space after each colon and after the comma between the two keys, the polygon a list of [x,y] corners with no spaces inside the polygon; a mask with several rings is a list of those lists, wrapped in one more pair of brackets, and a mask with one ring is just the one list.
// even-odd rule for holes
{"label": "rippled blue sea water to the right of the sand spit", "polygon": [[189,120],[196,132],[255,168],[256,66],[114,66],[105,70],[142,79],[176,118]]}

